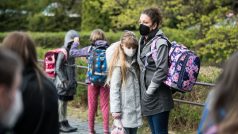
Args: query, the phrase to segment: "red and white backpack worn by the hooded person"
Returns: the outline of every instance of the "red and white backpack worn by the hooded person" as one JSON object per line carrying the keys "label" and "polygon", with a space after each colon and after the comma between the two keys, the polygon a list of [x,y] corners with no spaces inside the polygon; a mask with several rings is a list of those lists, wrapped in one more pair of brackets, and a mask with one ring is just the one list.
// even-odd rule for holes
{"label": "red and white backpack worn by the hooded person", "polygon": [[64,60],[67,59],[67,51],[64,48],[57,48],[54,50],[49,50],[45,53],[44,56],[44,71],[46,72],[47,76],[51,79],[55,79],[56,72],[56,61],[58,54],[62,52],[64,54]]}

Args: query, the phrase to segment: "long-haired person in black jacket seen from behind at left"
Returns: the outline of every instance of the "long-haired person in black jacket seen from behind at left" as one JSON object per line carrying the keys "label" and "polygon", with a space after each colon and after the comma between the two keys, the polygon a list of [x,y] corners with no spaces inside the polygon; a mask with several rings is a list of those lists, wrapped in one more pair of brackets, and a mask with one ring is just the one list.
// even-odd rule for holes
{"label": "long-haired person in black jacket seen from behind at left", "polygon": [[35,43],[24,32],[13,32],[3,46],[16,52],[23,61],[24,111],[14,127],[16,134],[58,134],[58,97],[54,84],[37,62]]}

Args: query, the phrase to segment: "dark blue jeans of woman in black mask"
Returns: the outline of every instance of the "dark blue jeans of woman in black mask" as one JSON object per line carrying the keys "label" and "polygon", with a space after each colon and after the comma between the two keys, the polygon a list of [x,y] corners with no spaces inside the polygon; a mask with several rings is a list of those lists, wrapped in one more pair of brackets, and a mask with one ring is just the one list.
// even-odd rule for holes
{"label": "dark blue jeans of woman in black mask", "polygon": [[147,116],[152,134],[168,134],[169,112]]}

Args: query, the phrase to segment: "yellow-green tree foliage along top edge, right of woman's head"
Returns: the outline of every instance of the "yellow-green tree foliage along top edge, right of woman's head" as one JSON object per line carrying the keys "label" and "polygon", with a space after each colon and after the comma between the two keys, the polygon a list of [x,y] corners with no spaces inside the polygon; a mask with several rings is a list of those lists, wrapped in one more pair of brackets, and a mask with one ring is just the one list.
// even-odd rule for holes
{"label": "yellow-green tree foliage along top edge, right of woman's head", "polygon": [[172,28],[199,28],[204,37],[210,26],[223,21],[232,8],[232,0],[162,0],[165,25]]}

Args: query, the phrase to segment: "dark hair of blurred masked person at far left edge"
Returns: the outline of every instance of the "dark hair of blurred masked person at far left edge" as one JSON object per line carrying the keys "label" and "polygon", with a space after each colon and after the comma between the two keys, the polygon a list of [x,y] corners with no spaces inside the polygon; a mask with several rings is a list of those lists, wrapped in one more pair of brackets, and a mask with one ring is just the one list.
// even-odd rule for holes
{"label": "dark hair of blurred masked person at far left edge", "polygon": [[17,71],[21,71],[22,63],[15,53],[0,48],[0,84],[11,88]]}

